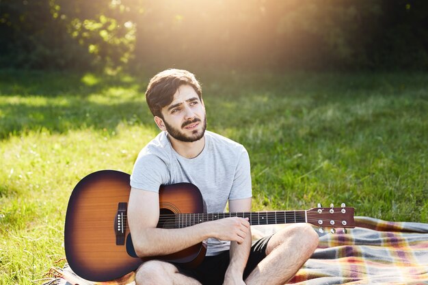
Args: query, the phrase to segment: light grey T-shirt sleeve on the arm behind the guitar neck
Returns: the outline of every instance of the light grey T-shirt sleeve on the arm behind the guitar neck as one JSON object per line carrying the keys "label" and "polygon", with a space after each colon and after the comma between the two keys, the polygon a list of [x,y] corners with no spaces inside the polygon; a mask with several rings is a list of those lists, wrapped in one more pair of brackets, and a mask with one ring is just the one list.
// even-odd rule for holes
{"label": "light grey T-shirt sleeve on the arm behind the guitar neck", "polygon": [[252,197],[250,157],[248,156],[247,150],[243,148],[237,163],[229,200],[238,200],[250,197]]}

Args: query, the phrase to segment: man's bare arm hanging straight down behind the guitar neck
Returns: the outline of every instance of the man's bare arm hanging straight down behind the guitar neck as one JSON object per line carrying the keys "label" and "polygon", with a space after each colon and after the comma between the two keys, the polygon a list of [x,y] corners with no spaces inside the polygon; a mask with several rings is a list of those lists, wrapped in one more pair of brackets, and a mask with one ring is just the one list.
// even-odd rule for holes
{"label": "man's bare arm hanging straight down behind the guitar neck", "polygon": [[[230,200],[229,211],[251,211],[251,198]],[[247,236],[245,236],[243,243],[238,244],[235,241],[230,242],[230,264],[224,277],[224,284],[244,284],[242,275],[245,265],[247,264],[248,256],[250,255],[251,242],[252,239],[250,229]]]}

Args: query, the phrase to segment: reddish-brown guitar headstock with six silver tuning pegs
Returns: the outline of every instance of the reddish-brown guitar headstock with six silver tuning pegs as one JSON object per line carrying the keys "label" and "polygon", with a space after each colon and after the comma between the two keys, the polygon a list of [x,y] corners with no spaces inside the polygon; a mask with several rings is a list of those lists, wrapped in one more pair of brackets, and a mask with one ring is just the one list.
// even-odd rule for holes
{"label": "reddish-brown guitar headstock with six silver tuning pegs", "polygon": [[308,223],[319,227],[319,232],[324,232],[324,228],[332,228],[331,232],[334,233],[335,228],[355,228],[355,221],[353,220],[353,213],[355,208],[347,207],[344,203],[340,207],[334,207],[330,204],[330,208],[323,208],[318,204],[318,208],[311,208],[307,212]]}

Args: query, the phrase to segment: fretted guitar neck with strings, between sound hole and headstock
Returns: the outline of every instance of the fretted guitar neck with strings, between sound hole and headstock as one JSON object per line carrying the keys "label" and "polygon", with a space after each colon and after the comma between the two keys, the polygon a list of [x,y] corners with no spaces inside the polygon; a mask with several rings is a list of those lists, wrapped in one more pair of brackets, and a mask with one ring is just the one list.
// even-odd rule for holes
{"label": "fretted guitar neck with strings, between sound hole and headstock", "polygon": [[250,225],[273,225],[277,223],[306,223],[307,214],[302,211],[268,211],[268,212],[236,212],[236,213],[196,213],[177,214],[174,217],[174,228],[186,228],[188,226],[215,221],[228,217],[248,218]]}

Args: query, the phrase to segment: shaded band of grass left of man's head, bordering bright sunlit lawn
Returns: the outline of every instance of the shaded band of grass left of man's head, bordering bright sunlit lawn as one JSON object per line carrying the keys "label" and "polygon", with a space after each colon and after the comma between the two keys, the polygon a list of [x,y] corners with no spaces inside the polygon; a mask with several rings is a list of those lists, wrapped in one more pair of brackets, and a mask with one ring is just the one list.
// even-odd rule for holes
{"label": "shaded band of grass left of man's head, bordering bright sunlit lawn", "polygon": [[145,124],[150,126],[152,116],[143,102],[102,105],[88,100],[68,98],[66,106],[14,104],[1,106],[5,118],[0,122],[0,139],[22,135],[30,131],[47,130],[67,133],[70,130],[92,128],[114,131],[118,124]]}

